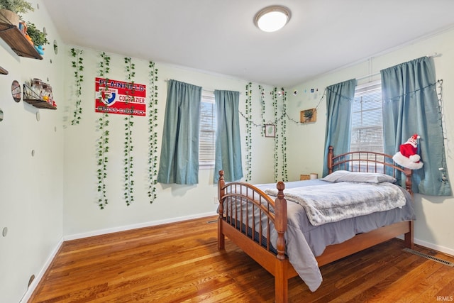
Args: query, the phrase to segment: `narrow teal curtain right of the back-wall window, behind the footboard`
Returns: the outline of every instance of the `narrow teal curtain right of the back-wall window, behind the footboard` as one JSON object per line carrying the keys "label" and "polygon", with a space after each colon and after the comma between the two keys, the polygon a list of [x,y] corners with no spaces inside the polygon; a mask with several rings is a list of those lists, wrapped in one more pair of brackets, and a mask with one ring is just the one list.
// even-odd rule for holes
{"label": "narrow teal curtain right of the back-wall window, behind the footboard", "polygon": [[214,182],[219,178],[219,170],[224,171],[224,179],[228,182],[240,180],[243,177],[238,116],[240,93],[215,90],[214,101],[217,117]]}

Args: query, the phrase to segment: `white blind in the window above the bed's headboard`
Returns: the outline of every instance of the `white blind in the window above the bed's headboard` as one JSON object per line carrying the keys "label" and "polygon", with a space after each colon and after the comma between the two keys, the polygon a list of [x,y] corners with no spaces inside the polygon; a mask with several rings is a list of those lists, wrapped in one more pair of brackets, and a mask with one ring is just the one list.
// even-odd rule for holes
{"label": "white blind in the window above the bed's headboard", "polygon": [[382,84],[370,82],[355,89],[350,151],[383,153]]}

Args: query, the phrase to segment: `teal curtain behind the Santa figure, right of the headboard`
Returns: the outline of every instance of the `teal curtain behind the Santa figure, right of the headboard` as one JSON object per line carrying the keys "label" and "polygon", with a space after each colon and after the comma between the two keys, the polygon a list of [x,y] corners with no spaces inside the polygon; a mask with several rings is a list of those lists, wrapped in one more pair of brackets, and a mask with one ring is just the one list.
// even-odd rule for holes
{"label": "teal curtain behind the Santa figure, right of the headboard", "polygon": [[389,67],[381,74],[384,153],[394,155],[402,143],[418,133],[424,164],[413,171],[413,191],[449,196],[450,184],[441,180],[440,169],[447,174],[447,167],[433,58],[421,57]]}

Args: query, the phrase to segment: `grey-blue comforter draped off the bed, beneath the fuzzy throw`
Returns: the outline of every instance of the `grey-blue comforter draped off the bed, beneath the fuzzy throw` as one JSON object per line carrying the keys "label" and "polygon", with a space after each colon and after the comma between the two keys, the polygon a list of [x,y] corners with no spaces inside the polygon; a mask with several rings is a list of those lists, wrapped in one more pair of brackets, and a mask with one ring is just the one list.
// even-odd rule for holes
{"label": "grey-blue comforter draped off the bed, beneath the fuzzy throw", "polygon": [[[285,189],[329,184],[332,183],[323,180],[286,182]],[[275,187],[275,184],[256,184],[255,187],[265,191]],[[321,285],[322,277],[316,256],[321,255],[326,246],[342,243],[358,233],[367,233],[382,226],[416,219],[410,194],[402,187],[398,188],[402,190],[406,199],[402,207],[318,226],[310,223],[303,206],[287,201],[288,228],[285,233],[287,255],[290,263],[311,291],[315,291]],[[277,233],[270,231],[270,238],[272,243],[276,243]]]}

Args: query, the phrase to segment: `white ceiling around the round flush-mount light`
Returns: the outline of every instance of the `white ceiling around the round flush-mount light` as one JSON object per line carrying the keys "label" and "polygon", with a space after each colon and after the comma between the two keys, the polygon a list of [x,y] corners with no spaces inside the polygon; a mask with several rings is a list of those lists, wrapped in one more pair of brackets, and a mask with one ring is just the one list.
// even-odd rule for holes
{"label": "white ceiling around the round flush-mount light", "polygon": [[[453,0],[43,1],[67,44],[287,88],[454,26]],[[264,33],[272,4],[292,18]]]}

